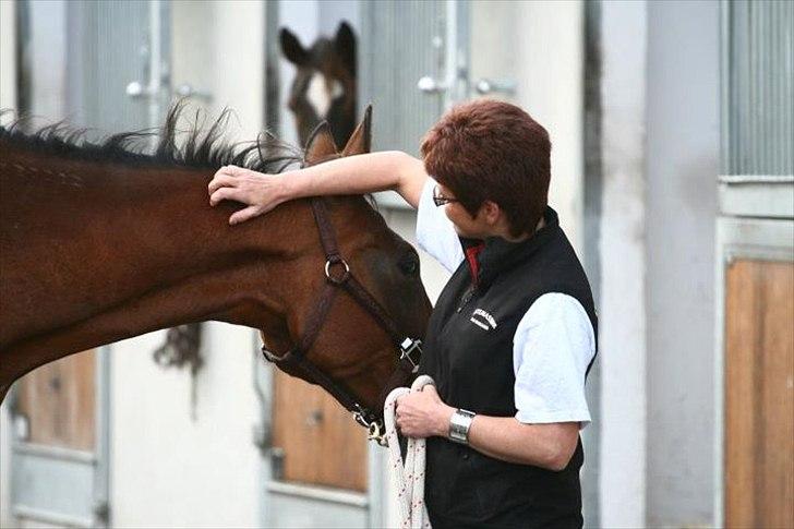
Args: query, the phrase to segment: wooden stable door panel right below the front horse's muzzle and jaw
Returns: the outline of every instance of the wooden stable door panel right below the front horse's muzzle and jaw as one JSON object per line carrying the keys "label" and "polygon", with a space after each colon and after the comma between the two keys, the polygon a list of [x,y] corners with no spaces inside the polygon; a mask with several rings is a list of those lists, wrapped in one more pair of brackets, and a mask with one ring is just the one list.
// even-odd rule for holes
{"label": "wooden stable door panel right below the front horse's muzzle and jaw", "polygon": [[318,386],[275,370],[274,474],[281,481],[366,491],[366,431]]}

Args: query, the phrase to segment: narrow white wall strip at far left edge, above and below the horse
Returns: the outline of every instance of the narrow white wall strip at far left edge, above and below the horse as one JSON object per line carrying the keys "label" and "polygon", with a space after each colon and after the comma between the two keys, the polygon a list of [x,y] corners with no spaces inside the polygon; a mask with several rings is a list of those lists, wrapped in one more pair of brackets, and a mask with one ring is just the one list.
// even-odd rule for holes
{"label": "narrow white wall strip at far left edge, above and below the horse", "polygon": [[[0,1],[0,109],[16,109],[16,2]],[[8,117],[3,120],[9,119]],[[11,421],[9,399],[0,406],[0,527],[11,524]]]}

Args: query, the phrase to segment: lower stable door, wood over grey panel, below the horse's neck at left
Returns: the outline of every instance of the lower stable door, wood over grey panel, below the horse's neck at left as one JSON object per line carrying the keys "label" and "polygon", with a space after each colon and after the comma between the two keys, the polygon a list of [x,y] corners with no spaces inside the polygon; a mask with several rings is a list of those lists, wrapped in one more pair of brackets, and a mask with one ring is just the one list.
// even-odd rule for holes
{"label": "lower stable door, wood over grey panel, below the horse's neck at left", "polygon": [[108,524],[106,366],[89,350],[14,385],[11,512],[22,527]]}

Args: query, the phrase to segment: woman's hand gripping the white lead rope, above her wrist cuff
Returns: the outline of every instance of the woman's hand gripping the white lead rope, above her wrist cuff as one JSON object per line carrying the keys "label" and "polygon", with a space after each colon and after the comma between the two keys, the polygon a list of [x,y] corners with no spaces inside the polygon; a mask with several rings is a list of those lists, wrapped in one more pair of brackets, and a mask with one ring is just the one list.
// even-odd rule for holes
{"label": "woman's hand gripping the white lead rope, above her wrist cuff", "polygon": [[455,408],[445,405],[435,386],[426,385],[421,392],[397,398],[396,422],[406,437],[446,437]]}

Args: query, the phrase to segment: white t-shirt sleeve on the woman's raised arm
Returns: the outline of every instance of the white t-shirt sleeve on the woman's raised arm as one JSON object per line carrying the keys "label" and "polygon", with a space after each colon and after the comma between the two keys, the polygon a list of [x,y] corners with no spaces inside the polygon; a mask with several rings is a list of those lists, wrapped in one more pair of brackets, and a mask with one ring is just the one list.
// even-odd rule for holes
{"label": "white t-shirt sleeve on the woman's raised arm", "polygon": [[435,180],[429,178],[422,188],[417,209],[417,243],[444,268],[453,273],[464,261],[464,249],[453,221],[433,202]]}

